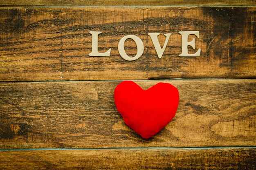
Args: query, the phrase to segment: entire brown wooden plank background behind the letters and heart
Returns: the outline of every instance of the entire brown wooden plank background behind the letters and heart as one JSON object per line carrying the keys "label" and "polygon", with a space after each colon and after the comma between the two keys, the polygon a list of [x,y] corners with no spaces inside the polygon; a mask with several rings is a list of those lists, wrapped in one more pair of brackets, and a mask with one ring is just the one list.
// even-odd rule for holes
{"label": "entire brown wooden plank background behind the letters and heart", "polygon": [[[255,0],[0,0],[0,169],[256,169],[255,16]],[[89,31],[110,57],[88,56]],[[200,57],[178,57],[178,31],[200,31]],[[172,33],[162,59],[155,32]],[[145,47],[132,62],[117,50],[130,34]],[[115,107],[128,79],[179,90],[150,139]]]}

